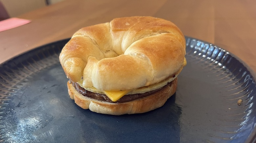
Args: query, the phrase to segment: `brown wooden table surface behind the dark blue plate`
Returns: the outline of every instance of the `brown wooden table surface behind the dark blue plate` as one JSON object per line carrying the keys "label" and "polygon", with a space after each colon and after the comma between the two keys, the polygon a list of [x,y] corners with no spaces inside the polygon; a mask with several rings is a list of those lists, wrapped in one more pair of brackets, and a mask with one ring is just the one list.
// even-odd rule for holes
{"label": "brown wooden table surface behind the dark blue plate", "polygon": [[0,63],[38,46],[70,38],[81,27],[124,16],[154,16],[184,35],[214,43],[256,71],[256,1],[66,0],[19,16],[31,23],[0,32]]}

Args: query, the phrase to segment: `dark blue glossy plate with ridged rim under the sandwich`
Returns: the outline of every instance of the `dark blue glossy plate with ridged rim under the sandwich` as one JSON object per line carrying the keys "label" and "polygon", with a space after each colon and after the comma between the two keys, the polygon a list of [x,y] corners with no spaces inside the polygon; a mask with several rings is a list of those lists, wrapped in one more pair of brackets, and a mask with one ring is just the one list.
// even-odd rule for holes
{"label": "dark blue glossy plate with ridged rim under the sandwich", "polygon": [[70,99],[58,59],[68,40],[0,65],[0,142],[255,141],[255,73],[222,48],[186,37],[175,95],[156,110],[112,116]]}

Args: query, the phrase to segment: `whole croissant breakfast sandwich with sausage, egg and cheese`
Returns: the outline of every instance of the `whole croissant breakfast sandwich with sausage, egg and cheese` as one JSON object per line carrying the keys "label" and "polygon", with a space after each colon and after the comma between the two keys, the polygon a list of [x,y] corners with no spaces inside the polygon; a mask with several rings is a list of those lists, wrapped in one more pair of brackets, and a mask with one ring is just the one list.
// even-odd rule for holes
{"label": "whole croissant breakfast sandwich with sausage, egg and cheese", "polygon": [[144,113],[175,93],[186,65],[185,39],[164,19],[116,18],[75,32],[59,59],[78,106],[111,115]]}

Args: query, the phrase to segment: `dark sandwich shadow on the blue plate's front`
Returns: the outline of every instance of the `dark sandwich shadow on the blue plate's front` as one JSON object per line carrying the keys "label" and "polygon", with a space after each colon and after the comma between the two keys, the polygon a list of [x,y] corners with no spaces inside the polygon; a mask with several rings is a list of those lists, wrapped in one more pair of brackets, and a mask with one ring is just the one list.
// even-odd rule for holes
{"label": "dark sandwich shadow on the blue plate's front", "polygon": [[176,94],[158,109],[120,116],[99,114],[76,106],[83,115],[80,117],[83,138],[99,142],[179,142],[181,107],[175,99]]}

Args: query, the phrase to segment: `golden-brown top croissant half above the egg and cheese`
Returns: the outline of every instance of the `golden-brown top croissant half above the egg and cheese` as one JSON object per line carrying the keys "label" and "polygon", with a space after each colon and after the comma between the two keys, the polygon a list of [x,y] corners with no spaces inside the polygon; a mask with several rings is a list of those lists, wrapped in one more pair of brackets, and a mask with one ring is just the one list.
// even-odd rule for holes
{"label": "golden-brown top croissant half above the egg and cheese", "polygon": [[175,24],[136,16],[80,29],[63,48],[60,63],[72,81],[86,77],[83,87],[128,90],[177,73],[184,56],[185,39]]}

